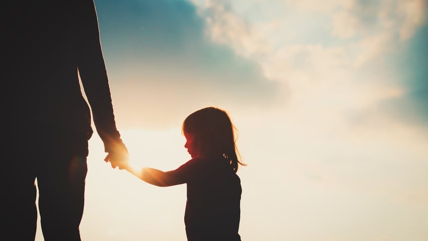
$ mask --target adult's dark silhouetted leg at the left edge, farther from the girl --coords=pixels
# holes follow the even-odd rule
[[[34,241],[37,228],[35,166],[37,156],[31,150],[31,135],[24,129],[2,131],[6,141],[2,155],[2,225],[1,233],[11,240]]]

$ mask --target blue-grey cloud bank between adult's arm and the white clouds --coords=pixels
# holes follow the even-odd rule
[[[192,3],[95,4],[115,113],[124,125],[161,128],[207,105],[266,108],[283,98],[259,63],[207,36],[209,23]],[[236,25],[230,38],[242,35],[245,44],[245,24]]]

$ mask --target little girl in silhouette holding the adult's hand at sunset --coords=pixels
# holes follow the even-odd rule
[[[192,159],[176,170],[145,167],[141,173],[128,171],[156,186],[187,183],[184,215],[188,241],[240,241],[241,181],[234,125],[229,115],[207,107],[190,114],[183,122],[184,147]]]

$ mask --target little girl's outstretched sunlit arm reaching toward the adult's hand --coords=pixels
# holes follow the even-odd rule
[[[125,168],[131,174],[140,178],[141,180],[155,185],[155,186],[174,186],[183,184],[184,182],[175,178],[174,171],[164,172],[158,169],[144,167],[141,172],[136,172],[132,168]]]

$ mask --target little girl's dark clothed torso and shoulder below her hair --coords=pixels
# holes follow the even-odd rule
[[[184,223],[188,241],[241,240],[241,180],[227,160],[194,158],[168,173],[177,182],[187,183]]]

